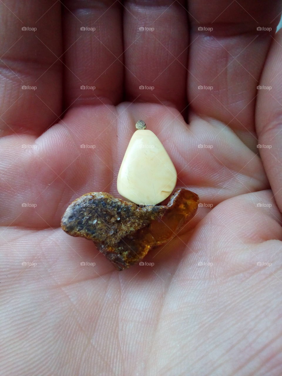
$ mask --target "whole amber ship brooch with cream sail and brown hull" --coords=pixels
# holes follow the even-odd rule
[[[186,188],[173,192],[177,173],[158,137],[136,123],[117,177],[118,193],[86,193],[74,200],[61,227],[71,236],[92,240],[117,270],[141,261],[154,247],[167,243],[197,211],[199,197]]]

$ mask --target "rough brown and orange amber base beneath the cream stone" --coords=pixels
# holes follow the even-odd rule
[[[153,247],[168,242],[197,211],[197,194],[178,189],[168,205],[139,207],[108,193],[87,193],[62,217],[69,235],[94,241],[118,270],[139,262]]]

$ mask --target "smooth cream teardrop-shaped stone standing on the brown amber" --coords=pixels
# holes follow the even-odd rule
[[[155,133],[136,130],[118,172],[118,193],[137,205],[156,205],[170,196],[176,179],[175,167]]]

